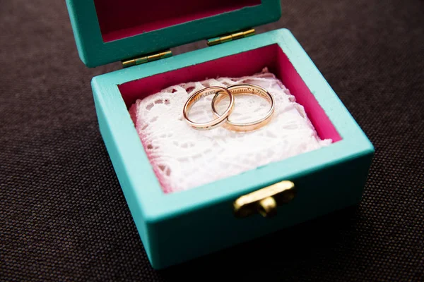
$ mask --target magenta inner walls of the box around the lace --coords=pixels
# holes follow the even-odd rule
[[[245,51],[239,54],[226,56],[213,61],[199,63],[185,68],[179,68],[167,73],[159,73],[147,78],[133,80],[118,85],[119,91],[126,106],[129,108],[136,99],[143,99],[151,94],[160,92],[166,87],[181,82],[200,81],[216,77],[242,77],[259,73],[268,67],[296,97],[299,104],[304,106],[306,114],[314,125],[321,139],[341,140],[333,123],[326,116],[324,109],[319,105],[314,94],[295,70],[288,57],[278,44]]]

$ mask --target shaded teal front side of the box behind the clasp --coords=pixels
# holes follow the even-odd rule
[[[156,223],[149,230],[151,251],[157,254],[153,267],[162,269],[186,262],[358,204],[372,154],[369,150],[355,159],[285,179],[295,183],[297,196],[278,207],[278,214],[271,219],[259,214],[235,218],[232,199]]]

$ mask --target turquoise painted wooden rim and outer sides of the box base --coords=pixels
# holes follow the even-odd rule
[[[117,85],[277,43],[343,140],[201,187],[164,194]],[[155,269],[185,262],[360,201],[374,147],[291,32],[274,30],[187,54],[125,68],[92,80],[100,132]],[[232,201],[293,180],[298,195],[274,219],[235,219]],[[252,227],[254,226],[254,227]]]

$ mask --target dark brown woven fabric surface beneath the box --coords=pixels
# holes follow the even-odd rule
[[[81,63],[64,1],[2,0],[1,280],[423,278],[423,1],[283,1],[281,20],[258,32],[278,27],[293,32],[375,145],[363,201],[154,271],[102,143],[90,89],[94,75],[119,63]]]

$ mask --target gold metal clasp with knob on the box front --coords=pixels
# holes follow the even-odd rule
[[[275,216],[277,206],[287,204],[293,200],[295,194],[295,183],[288,180],[275,183],[235,200],[235,216],[242,218],[256,213],[264,217]]]

